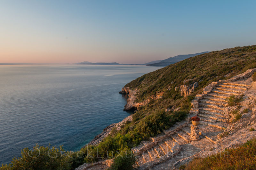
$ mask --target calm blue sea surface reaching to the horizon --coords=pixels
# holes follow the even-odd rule
[[[0,165],[23,148],[64,145],[76,151],[123,111],[122,87],[160,67],[104,65],[1,65]]]

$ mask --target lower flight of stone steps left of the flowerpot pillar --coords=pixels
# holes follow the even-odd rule
[[[190,142],[188,133],[182,131],[190,124],[189,118],[186,121],[176,123],[173,127],[164,131],[164,134],[151,138],[150,141],[142,141],[141,145],[132,148],[136,154],[139,169],[152,168],[155,165],[166,161],[180,152],[181,146]]]

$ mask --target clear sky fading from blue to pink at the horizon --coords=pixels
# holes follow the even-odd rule
[[[0,0],[0,63],[145,63],[255,44],[255,0]]]

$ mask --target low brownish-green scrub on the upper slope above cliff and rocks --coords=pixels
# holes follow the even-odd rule
[[[176,100],[175,87],[183,85],[184,80],[197,81],[199,84],[197,90],[200,91],[212,81],[225,80],[247,69],[255,68],[255,52],[254,45],[201,54],[145,74],[126,84],[125,87],[139,89],[137,96],[139,102],[162,91],[165,92],[163,100],[169,98]],[[227,74],[229,76],[225,77]],[[172,81],[171,90],[167,90]],[[175,103],[173,100],[172,105]]]

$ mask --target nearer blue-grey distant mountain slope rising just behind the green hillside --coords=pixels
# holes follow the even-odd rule
[[[194,57],[196,55],[200,55],[200,54],[204,54],[204,53],[209,53],[209,51],[205,51],[205,52],[202,52],[202,53],[195,53],[195,54],[177,55],[177,56],[174,56],[174,57],[169,57],[168,59],[159,61],[157,63],[147,64],[147,66],[165,67],[165,66],[169,66],[170,64],[174,64],[176,62],[179,62],[181,60],[185,60],[189,57]]]

